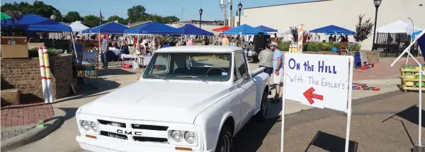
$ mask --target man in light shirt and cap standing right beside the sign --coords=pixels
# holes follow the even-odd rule
[[[270,50],[273,52],[273,83],[275,84],[276,88],[276,95],[274,98],[271,99],[271,101],[278,102],[280,97],[280,80],[283,76],[283,54],[282,52],[277,48],[278,43],[271,42]]]

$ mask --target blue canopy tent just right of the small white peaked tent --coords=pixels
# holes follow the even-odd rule
[[[98,25],[94,28],[88,28],[86,30],[82,30],[83,33],[108,33],[108,34],[123,34],[125,30],[128,30],[125,25],[115,22],[105,23],[103,25]]]

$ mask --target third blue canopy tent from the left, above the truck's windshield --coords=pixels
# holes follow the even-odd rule
[[[178,28],[173,28],[169,25],[157,22],[149,22],[135,28],[125,30],[129,34],[182,34]]]

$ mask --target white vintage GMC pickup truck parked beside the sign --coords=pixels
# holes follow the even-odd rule
[[[266,119],[269,76],[226,46],[155,51],[139,81],[79,107],[88,151],[232,151],[251,117]]]

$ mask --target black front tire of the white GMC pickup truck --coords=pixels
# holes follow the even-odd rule
[[[232,152],[233,150],[233,133],[227,125],[222,127],[220,136],[218,137],[215,152]]]

